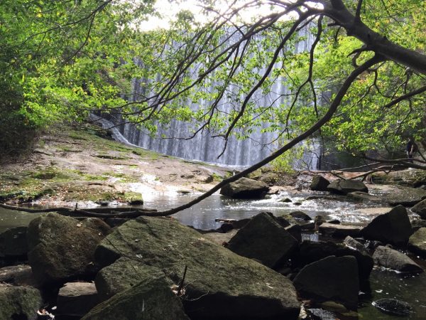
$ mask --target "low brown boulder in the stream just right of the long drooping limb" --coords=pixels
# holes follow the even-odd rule
[[[220,194],[238,199],[263,198],[269,186],[249,178],[239,178],[237,181],[226,184],[220,189]]]

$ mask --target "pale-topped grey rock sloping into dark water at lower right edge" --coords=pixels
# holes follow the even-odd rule
[[[373,260],[376,265],[399,272],[423,272],[422,267],[417,265],[417,263],[407,257],[407,255],[393,250],[390,247],[378,246],[376,251],[374,251]]]

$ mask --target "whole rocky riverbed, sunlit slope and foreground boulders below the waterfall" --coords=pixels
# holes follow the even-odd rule
[[[96,133],[40,137],[33,154],[1,167],[2,201],[173,206],[149,195],[186,201],[231,174]],[[0,319],[424,319],[422,173],[372,177],[399,186],[335,174],[295,181],[268,171],[231,183],[211,208],[177,215],[199,228],[191,217],[217,199],[239,206],[232,217],[201,213],[204,230],[175,218],[28,216],[0,235]],[[258,199],[234,199],[248,195]]]

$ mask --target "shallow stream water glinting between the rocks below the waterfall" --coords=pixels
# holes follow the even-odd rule
[[[376,192],[380,196],[380,191]],[[144,194],[144,207],[164,210],[173,208],[198,196],[197,194],[182,195],[180,193],[148,193]],[[280,202],[289,198],[291,202]],[[381,210],[386,210],[383,203],[363,203],[362,201],[347,201],[344,196],[329,196],[326,193],[300,191],[281,191],[279,195],[271,198],[249,201],[236,200],[214,194],[201,203],[177,213],[174,218],[185,225],[192,225],[197,229],[209,230],[219,228],[222,223],[215,219],[241,219],[249,218],[261,211],[269,211],[274,215],[290,213],[301,210],[311,218],[315,215],[323,215],[326,220],[339,219],[343,224],[366,225]],[[371,210],[373,209],[373,210]],[[415,214],[408,210],[410,218]],[[20,211],[0,208],[0,233],[6,229],[28,223],[38,216],[37,213],[24,213]],[[426,269],[425,260],[419,260],[411,256],[423,268]],[[417,276],[404,276],[396,272],[374,269],[370,276],[370,289],[360,295],[361,306],[359,319],[401,319],[399,316],[384,314],[371,305],[373,300],[381,298],[395,298],[408,302],[413,307],[410,316],[404,319],[426,319],[426,274]],[[342,318],[344,319],[344,318]],[[353,318],[352,318],[353,319]]]

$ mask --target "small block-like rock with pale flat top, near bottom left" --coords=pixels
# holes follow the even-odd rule
[[[96,287],[92,282],[68,282],[59,289],[55,314],[59,317],[81,318],[99,304]]]

